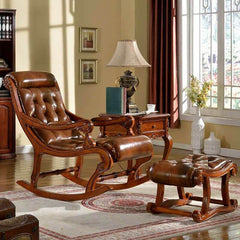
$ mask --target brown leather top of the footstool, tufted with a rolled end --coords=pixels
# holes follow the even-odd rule
[[[201,184],[202,174],[214,174],[224,169],[231,160],[216,156],[188,155],[186,158],[164,160],[153,164],[148,175],[153,182],[180,187]]]

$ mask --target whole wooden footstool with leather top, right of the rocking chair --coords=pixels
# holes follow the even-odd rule
[[[231,212],[237,208],[237,200],[229,197],[229,178],[237,173],[237,165],[229,159],[206,155],[189,155],[181,161],[163,160],[148,170],[149,178],[158,184],[155,203],[148,203],[147,211],[171,213],[192,217],[196,222],[209,219],[219,212]],[[222,200],[211,198],[210,178],[221,177]],[[185,193],[184,187],[203,186],[203,197]],[[164,185],[177,186],[179,199],[163,201]],[[191,200],[201,201],[201,210],[188,212],[171,208],[189,204]],[[221,206],[210,208],[210,203]]]

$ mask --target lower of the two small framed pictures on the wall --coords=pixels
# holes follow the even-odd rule
[[[80,60],[80,84],[97,83],[97,60]]]

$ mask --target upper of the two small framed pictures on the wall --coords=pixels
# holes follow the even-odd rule
[[[82,52],[97,51],[97,28],[80,28],[80,38]]]

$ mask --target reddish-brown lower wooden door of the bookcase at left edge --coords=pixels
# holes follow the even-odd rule
[[[15,156],[15,116],[11,98],[4,98],[0,99],[0,159]]]

